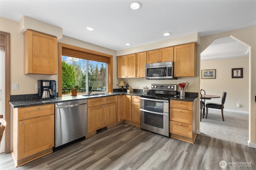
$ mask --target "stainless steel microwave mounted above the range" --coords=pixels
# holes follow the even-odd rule
[[[150,63],[145,66],[146,79],[177,79],[173,77],[173,62]]]

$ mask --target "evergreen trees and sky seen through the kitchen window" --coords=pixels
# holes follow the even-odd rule
[[[87,62],[88,69],[86,68]],[[90,80],[92,92],[106,92],[107,66],[107,63],[62,55],[62,95],[69,95],[65,91],[73,86],[80,87],[78,94],[88,94],[86,80]]]

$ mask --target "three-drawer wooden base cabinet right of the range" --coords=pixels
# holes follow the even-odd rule
[[[194,143],[196,139],[196,101],[170,100],[170,137]]]

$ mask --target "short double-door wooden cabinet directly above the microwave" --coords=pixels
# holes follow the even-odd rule
[[[147,63],[173,61],[173,47],[147,52]]]

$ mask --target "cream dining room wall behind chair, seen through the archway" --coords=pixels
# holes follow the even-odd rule
[[[232,68],[243,68],[243,78],[232,78]],[[249,111],[249,57],[203,60],[201,70],[216,69],[216,79],[201,79],[206,94],[222,96],[227,92],[224,110],[248,113]],[[221,103],[221,98],[206,100]],[[241,103],[237,107],[237,102]]]

